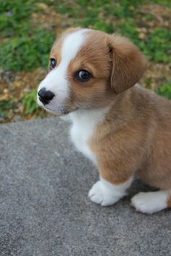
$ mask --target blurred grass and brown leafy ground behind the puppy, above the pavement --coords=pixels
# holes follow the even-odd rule
[[[130,38],[149,59],[141,84],[171,99],[170,0],[0,0],[0,123],[47,115],[36,88],[54,39],[72,26]]]

